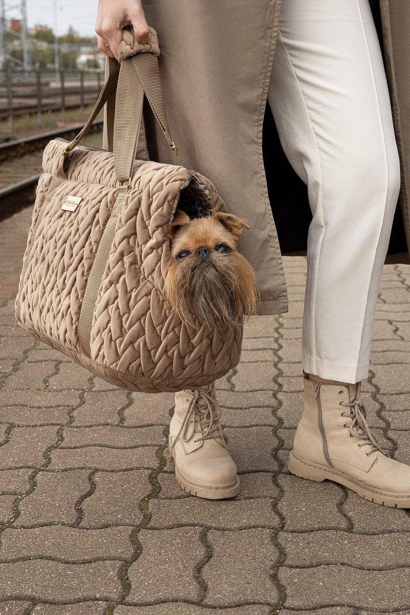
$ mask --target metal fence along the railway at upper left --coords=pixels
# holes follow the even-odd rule
[[[97,100],[104,82],[103,71],[0,70],[0,119],[10,131],[17,116],[36,114],[41,126],[45,111],[84,109]]]

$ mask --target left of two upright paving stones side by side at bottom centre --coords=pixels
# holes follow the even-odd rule
[[[131,589],[125,603],[197,601],[202,590],[194,569],[207,554],[200,532],[201,528],[194,527],[141,530],[138,539],[142,551],[128,569]],[[152,574],[147,574],[147,570]]]

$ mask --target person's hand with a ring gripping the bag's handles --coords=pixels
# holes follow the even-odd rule
[[[141,44],[149,41],[149,28],[141,0],[99,0],[95,31],[98,49],[110,58],[117,58],[122,40],[122,28],[131,24]]]

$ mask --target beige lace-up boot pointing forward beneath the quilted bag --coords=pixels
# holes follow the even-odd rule
[[[175,394],[168,450],[178,484],[194,496],[233,498],[239,493],[237,467],[223,437],[215,384]]]

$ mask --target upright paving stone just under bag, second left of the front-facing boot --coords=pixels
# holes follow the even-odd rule
[[[77,408],[73,426],[117,425],[121,408],[128,404],[125,391],[108,391],[105,393],[89,392],[84,396],[84,403]]]

